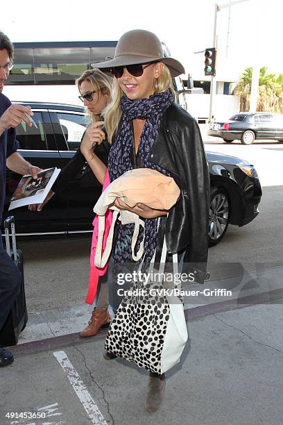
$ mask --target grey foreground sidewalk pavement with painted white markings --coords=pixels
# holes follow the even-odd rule
[[[182,362],[167,374],[164,404],[153,414],[144,412],[148,373],[103,360],[105,332],[15,347],[15,363],[0,371],[0,424],[281,425],[279,301],[189,320]],[[7,412],[46,417],[7,419]]]

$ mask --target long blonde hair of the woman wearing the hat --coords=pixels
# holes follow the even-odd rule
[[[160,77],[155,79],[155,93],[162,93],[169,89],[171,90],[176,101],[177,94],[173,89],[170,71],[164,63],[162,63],[162,65],[163,66],[161,69]],[[113,135],[118,129],[119,122],[122,116],[120,103],[121,97],[123,97],[124,95],[125,94],[120,88],[117,78],[114,77],[112,81],[112,101],[104,109],[105,128],[106,133],[108,135],[108,142],[110,143],[112,143]]]

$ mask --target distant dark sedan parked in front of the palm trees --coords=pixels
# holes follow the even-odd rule
[[[252,144],[255,140],[283,141],[283,115],[239,113],[228,121],[212,123],[208,135],[228,143],[233,140],[241,140],[243,144]]]

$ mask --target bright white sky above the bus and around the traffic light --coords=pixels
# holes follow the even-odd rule
[[[218,5],[230,0],[218,1]],[[212,47],[214,0],[39,0],[3,2],[0,30],[12,42],[118,40],[135,28],[153,31],[194,79],[204,77]],[[247,0],[217,13],[217,79],[236,81],[248,66],[283,72],[282,0]],[[228,38],[228,22],[230,31]],[[227,48],[228,44],[228,48]],[[279,53],[280,51],[280,53]]]

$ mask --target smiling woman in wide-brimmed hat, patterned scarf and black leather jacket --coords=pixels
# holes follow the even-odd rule
[[[181,189],[180,198],[169,212],[153,210],[141,203],[130,208],[121,199],[116,199],[114,205],[145,219],[145,265],[151,262],[155,250],[160,249],[163,232],[169,257],[178,253],[188,271],[192,268],[195,280],[203,283],[207,264],[209,173],[198,124],[175,103],[172,77],[184,74],[185,69],[178,60],[165,58],[160,40],[155,34],[143,30],[123,34],[114,58],[95,66],[113,76],[112,102],[104,115],[108,141],[112,145],[108,158],[110,181],[130,169],[144,167],[172,176]],[[162,223],[159,228],[158,219]],[[132,224],[117,226],[108,269],[110,304],[114,310],[121,301],[117,294],[114,295],[117,292],[117,276],[132,258],[132,232]],[[139,235],[139,243],[141,238],[142,234]],[[149,331],[144,335],[142,329],[141,335],[119,335],[120,324],[125,317],[123,313],[115,317],[116,324],[108,333],[110,339],[105,346],[107,360],[120,355],[117,347],[120,337],[128,338],[126,343],[133,344],[134,349],[143,343],[141,341],[153,340]],[[150,317],[147,319],[151,320]],[[146,330],[146,324],[142,328]],[[154,338],[161,341],[162,337],[155,335]],[[112,341],[112,347],[109,341]],[[156,364],[161,355],[160,343],[153,343],[151,353],[145,356],[154,356]],[[146,358],[135,363],[146,367]],[[164,398],[165,376],[156,372],[156,367],[146,369],[150,371],[150,378],[145,408],[153,412]]]

